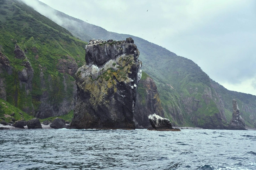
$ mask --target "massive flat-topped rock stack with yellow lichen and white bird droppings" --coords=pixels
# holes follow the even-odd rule
[[[133,39],[91,40],[85,50],[87,64],[75,74],[77,104],[70,127],[135,129],[133,111],[141,62]]]

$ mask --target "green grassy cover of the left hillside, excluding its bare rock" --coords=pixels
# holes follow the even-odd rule
[[[24,68],[21,66],[22,61],[14,58],[16,43],[25,51],[34,70],[33,90],[28,95],[23,87],[15,83],[18,71]],[[71,56],[78,63],[78,67],[81,67],[85,63],[86,44],[22,2],[0,0],[0,50],[8,57],[10,65],[14,68],[11,75],[0,75],[5,78],[7,85],[7,101],[20,109],[33,106],[37,110],[40,95],[44,91],[50,94],[49,100],[55,104],[62,102],[64,97],[70,97],[73,90],[70,82],[75,80],[67,75],[66,83],[70,86],[65,91],[62,83],[63,73],[58,72],[56,64],[59,59]],[[45,80],[49,76],[52,79],[52,84],[48,82],[45,89],[41,87],[39,78],[41,70]],[[14,98],[15,90],[18,91],[18,101]]]

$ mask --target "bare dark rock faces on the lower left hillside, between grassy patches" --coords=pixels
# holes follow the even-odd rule
[[[19,45],[15,45],[14,48],[14,57],[20,63],[17,68],[10,66],[9,59],[0,52],[0,98],[7,100],[7,97],[13,98],[13,104],[16,107],[19,107],[21,110],[26,113],[38,117],[38,118],[47,118],[52,116],[60,116],[68,114],[69,111],[73,110],[76,102],[76,84],[75,81],[69,81],[69,76],[74,75],[74,69],[77,69],[77,63],[73,61],[71,57],[68,57],[67,60],[59,60],[59,64],[62,65],[63,81],[59,82],[64,89],[71,89],[71,95],[64,96],[63,98],[58,99],[60,102],[56,102],[54,99],[54,93],[59,93],[60,89],[56,88],[56,80],[53,80],[52,76],[45,76],[44,69],[40,69],[40,74],[36,77],[40,81],[41,89],[50,89],[43,90],[43,93],[32,97],[32,94],[35,93],[34,86],[34,69],[26,56],[25,52],[20,48]],[[72,67],[72,69],[71,69]],[[38,70],[37,70],[38,72]],[[61,72],[61,70],[59,70]],[[6,77],[11,81],[7,84]],[[8,85],[8,86],[7,86]],[[8,87],[12,86],[11,90]],[[9,92],[9,94],[7,94]],[[10,93],[11,92],[11,93]],[[8,96],[9,95],[9,96]],[[53,98],[53,99],[52,99]],[[32,100],[32,101],[31,101]],[[40,103],[35,109],[34,104]]]

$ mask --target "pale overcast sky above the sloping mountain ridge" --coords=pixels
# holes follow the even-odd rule
[[[193,60],[225,88],[256,95],[256,0],[40,1],[165,47]]]

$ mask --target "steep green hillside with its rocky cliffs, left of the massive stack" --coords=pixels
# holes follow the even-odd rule
[[[23,2],[0,0],[0,52],[9,61],[0,60],[6,92],[0,98],[39,118],[67,114],[76,102],[73,76],[85,63],[86,44]]]

